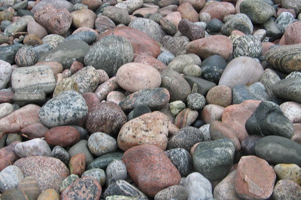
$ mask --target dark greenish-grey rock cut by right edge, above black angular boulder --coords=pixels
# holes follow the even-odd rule
[[[279,80],[274,83],[272,92],[280,98],[301,103],[299,82],[301,82],[301,78],[298,77]]]

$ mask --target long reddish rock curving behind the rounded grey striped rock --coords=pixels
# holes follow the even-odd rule
[[[158,57],[161,51],[160,45],[155,39],[135,28],[118,26],[102,33],[100,38],[107,35],[118,35],[128,39],[133,46],[135,54],[152,55],[154,57]]]

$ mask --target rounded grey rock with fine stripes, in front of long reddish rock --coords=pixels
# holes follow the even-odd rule
[[[99,60],[99,57],[102,59]],[[113,35],[98,40],[87,52],[84,59],[85,65],[103,69],[109,76],[116,73],[121,65],[132,60],[133,48],[130,42],[124,37]]]

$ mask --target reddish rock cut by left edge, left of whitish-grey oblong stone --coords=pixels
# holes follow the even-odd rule
[[[0,171],[19,159],[19,156],[15,153],[15,146],[19,142],[20,141],[15,141],[0,149]]]

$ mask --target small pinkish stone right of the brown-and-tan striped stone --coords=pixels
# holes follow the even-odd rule
[[[224,109],[224,107],[215,104],[205,105],[205,107],[201,111],[200,118],[205,123],[211,123],[214,120],[220,120],[222,118]]]

